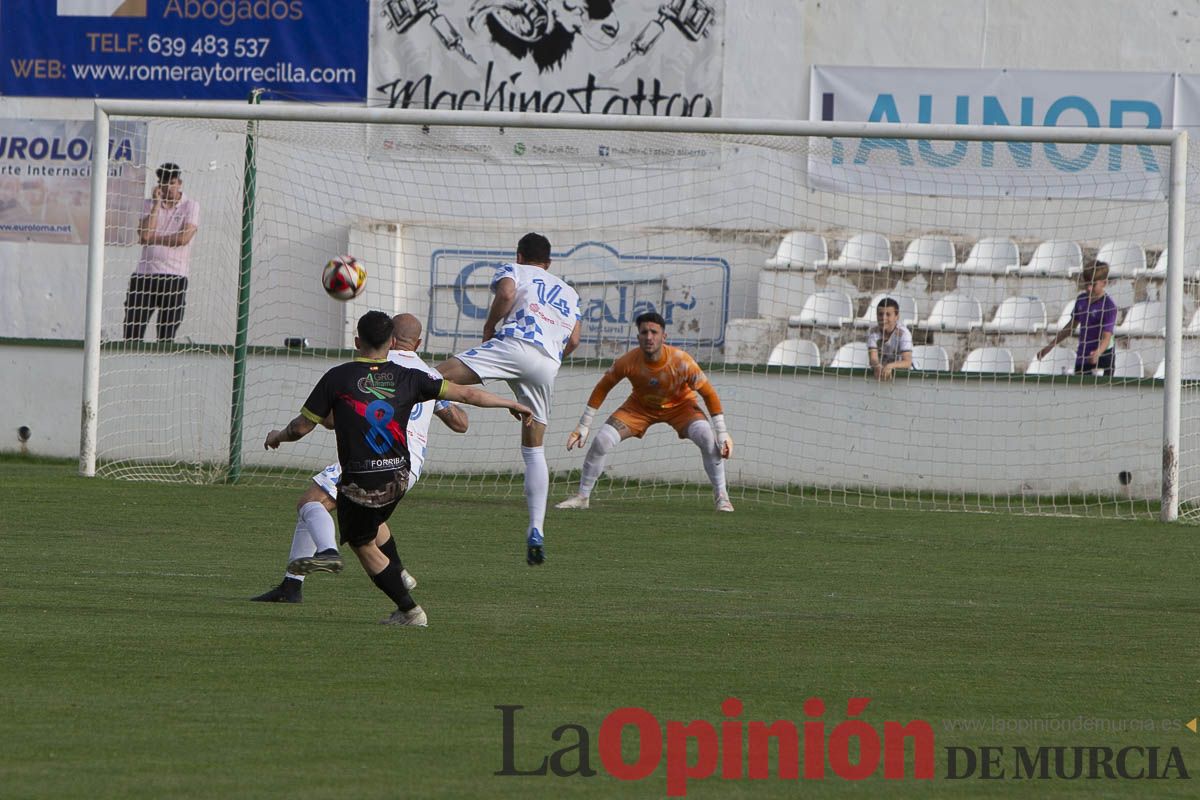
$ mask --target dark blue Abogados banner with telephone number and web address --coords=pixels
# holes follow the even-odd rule
[[[366,95],[367,0],[2,0],[0,94]]]

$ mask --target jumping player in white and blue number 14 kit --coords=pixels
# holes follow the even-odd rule
[[[550,272],[550,240],[526,234],[515,264],[492,276],[492,306],[484,323],[484,343],[439,363],[456,384],[505,380],[517,401],[533,409],[533,425],[521,427],[524,495],[529,510],[526,563],[545,560],[546,497],[550,470],[542,439],[550,422],[550,397],[563,357],[580,345],[580,295]]]

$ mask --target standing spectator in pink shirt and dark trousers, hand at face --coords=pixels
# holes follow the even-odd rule
[[[199,204],[184,196],[179,164],[164,163],[156,170],[158,184],[145,201],[138,223],[142,258],[130,276],[125,295],[125,339],[140,339],[155,309],[158,341],[174,342],[187,302],[187,267],[192,239],[200,223]]]

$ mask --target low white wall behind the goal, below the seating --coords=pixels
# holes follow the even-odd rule
[[[11,395],[10,433],[0,438],[0,449],[14,450],[16,428],[24,425],[32,431],[31,452],[78,453],[80,362],[80,350],[71,348],[0,350],[0,385],[38,387]],[[275,452],[262,449],[266,432],[298,413],[317,378],[332,363],[295,356],[251,359],[247,464],[317,470],[336,459],[334,437],[324,431]],[[568,453],[564,445],[596,374],[595,366],[568,366],[559,374],[546,441],[552,470],[578,469],[582,463],[580,453]],[[102,458],[224,463],[229,375],[228,356],[178,353],[106,359]],[[1162,387],[1152,381],[1036,383],[1021,375],[913,373],[880,384],[860,373],[748,371],[712,378],[737,441],[736,458],[728,462],[734,486],[1144,498],[1159,492]],[[40,391],[48,386],[53,391]],[[490,387],[508,392],[503,385]],[[1200,398],[1188,395],[1184,441],[1200,433],[1195,414]],[[618,387],[599,419],[606,419],[624,397]],[[427,471],[520,473],[517,429],[510,417],[499,411],[468,411],[468,435],[433,433]],[[1200,476],[1193,461],[1184,455],[1187,491],[1194,491]],[[1129,486],[1120,482],[1121,473],[1132,476]],[[665,426],[655,426],[641,443],[618,447],[608,475],[703,480],[695,449]]]

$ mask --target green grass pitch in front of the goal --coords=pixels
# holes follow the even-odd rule
[[[0,486],[0,798],[665,796],[662,765],[605,771],[602,720],[719,723],[731,696],[743,721],[798,726],[821,697],[827,733],[870,697],[876,730],[932,726],[936,777],[785,781],[773,759],[690,798],[1200,792],[1193,527],[596,495],[551,510],[529,569],[520,497],[424,487],[392,528],[430,627],[396,630],[353,557],[300,606],[247,602],[281,577],[296,489],[13,457]],[[574,723],[598,775],[494,775],[496,705],[524,706],[520,769]],[[1007,748],[1004,780],[946,777],[948,747],[980,746]],[[1013,780],[1016,746],[1178,747],[1192,777]]]

